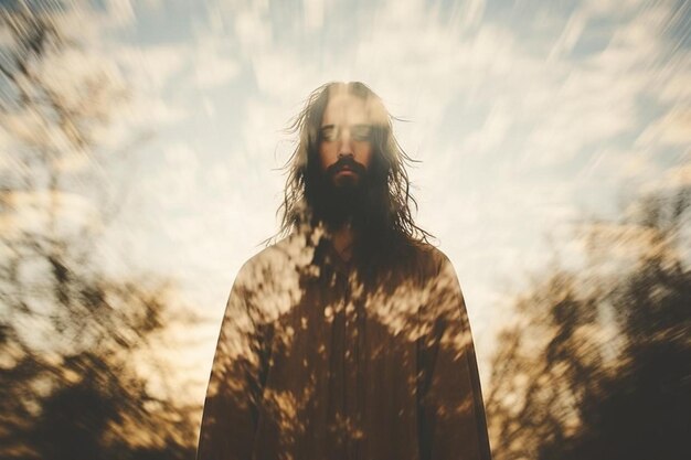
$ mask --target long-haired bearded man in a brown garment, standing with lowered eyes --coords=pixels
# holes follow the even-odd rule
[[[489,459],[463,295],[382,101],[327,84],[293,129],[286,237],[233,286],[198,459]]]

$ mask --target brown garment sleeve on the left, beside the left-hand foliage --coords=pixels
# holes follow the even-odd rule
[[[248,460],[262,396],[266,352],[241,277],[231,291],[213,360],[196,460]]]

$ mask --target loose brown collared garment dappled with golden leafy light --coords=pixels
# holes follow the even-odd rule
[[[451,264],[432,246],[361,280],[293,236],[233,286],[198,460],[489,460]],[[402,265],[403,267],[403,265]]]

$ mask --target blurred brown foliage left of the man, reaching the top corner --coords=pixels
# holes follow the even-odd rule
[[[63,13],[0,7],[0,458],[191,458],[200,408],[174,399],[153,352],[193,319],[171,308],[169,281],[102,268],[118,196],[95,175],[94,133],[125,92],[87,60],[74,66]]]

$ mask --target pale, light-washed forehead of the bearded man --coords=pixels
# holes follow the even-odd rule
[[[338,92],[329,95],[321,125],[380,125],[385,119],[379,100]]]

